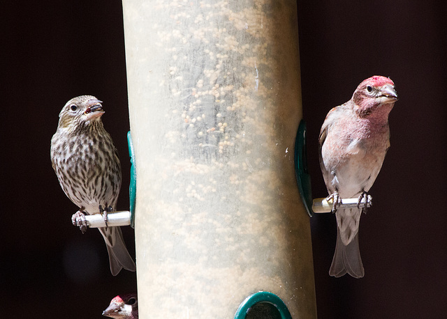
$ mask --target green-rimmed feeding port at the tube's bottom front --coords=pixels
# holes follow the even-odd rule
[[[273,293],[259,291],[247,297],[235,314],[235,319],[291,319],[286,304]]]

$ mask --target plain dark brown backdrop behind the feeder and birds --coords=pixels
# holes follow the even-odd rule
[[[400,97],[390,114],[392,146],[371,189],[374,207],[362,216],[363,279],[328,276],[335,217],[311,220],[319,318],[447,313],[447,10],[444,1],[408,2],[298,0],[314,197],[326,195],[317,139],[328,110],[372,75],[391,77]],[[118,208],[129,207],[121,1],[2,7],[0,316],[101,318],[112,297],[135,290],[135,274],[112,277],[98,231],[81,235],[71,225],[75,206],[52,171],[50,139],[69,98],[103,100],[122,157]],[[133,230],[124,233],[133,254]]]

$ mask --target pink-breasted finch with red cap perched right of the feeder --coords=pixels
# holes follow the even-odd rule
[[[390,147],[388,114],[397,100],[394,83],[374,76],[362,81],[348,102],[331,109],[320,132],[320,166],[337,218],[337,245],[329,274],[365,275],[358,248],[360,214],[365,208],[337,209],[342,199],[367,194]]]

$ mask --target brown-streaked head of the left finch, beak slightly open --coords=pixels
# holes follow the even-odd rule
[[[75,129],[80,125],[88,125],[101,121],[104,114],[102,101],[92,95],[81,95],[72,98],[62,108],[59,114],[59,127]]]

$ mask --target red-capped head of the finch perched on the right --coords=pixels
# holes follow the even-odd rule
[[[374,75],[359,84],[352,100],[360,117],[376,114],[388,118],[394,102],[397,101],[397,92],[390,78]]]

